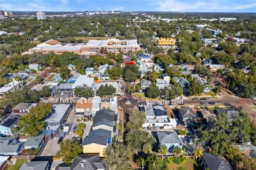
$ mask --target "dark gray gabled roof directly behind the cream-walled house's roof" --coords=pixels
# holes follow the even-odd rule
[[[92,127],[100,126],[100,125],[106,125],[113,127],[115,121],[115,111],[113,110],[99,110],[96,112]]]

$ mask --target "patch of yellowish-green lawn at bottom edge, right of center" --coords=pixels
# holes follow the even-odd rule
[[[195,163],[194,159],[187,158],[186,162],[177,165],[171,161],[168,167],[169,170],[201,170],[202,168]]]

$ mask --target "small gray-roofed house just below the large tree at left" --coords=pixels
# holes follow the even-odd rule
[[[27,139],[27,141],[23,144],[24,149],[36,149],[41,148],[44,142],[44,135],[39,136],[31,136]]]

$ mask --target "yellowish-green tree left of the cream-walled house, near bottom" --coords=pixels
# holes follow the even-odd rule
[[[67,164],[83,151],[81,145],[78,141],[73,141],[71,139],[64,140],[60,143],[60,150],[54,156],[55,158],[63,157],[63,161]]]

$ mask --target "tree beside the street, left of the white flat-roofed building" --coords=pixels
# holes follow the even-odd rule
[[[140,129],[142,124],[145,123],[145,112],[142,111],[130,111],[129,112],[129,121],[126,123],[126,128],[130,130],[132,129]]]

